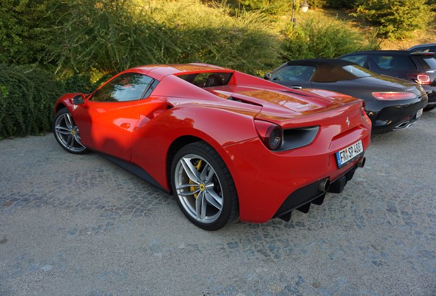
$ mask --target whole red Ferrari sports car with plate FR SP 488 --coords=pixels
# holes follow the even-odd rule
[[[370,145],[362,101],[208,64],[138,66],[56,102],[53,133],[173,193],[198,227],[289,221],[341,193]]]

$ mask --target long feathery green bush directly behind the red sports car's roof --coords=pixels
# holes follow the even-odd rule
[[[265,16],[210,8],[199,0],[75,0],[47,61],[58,72],[114,73],[140,64],[206,62],[258,73],[278,61]],[[189,17],[186,17],[189,16]],[[256,58],[253,58],[253,57]]]

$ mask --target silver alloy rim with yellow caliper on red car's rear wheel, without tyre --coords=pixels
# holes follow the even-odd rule
[[[213,167],[197,154],[186,154],[174,171],[175,189],[186,212],[196,221],[217,221],[223,210],[223,191]]]

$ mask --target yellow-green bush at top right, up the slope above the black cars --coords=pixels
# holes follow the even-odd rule
[[[415,29],[426,27],[430,7],[427,0],[358,0],[354,15],[378,26],[378,32],[387,38],[402,39]]]

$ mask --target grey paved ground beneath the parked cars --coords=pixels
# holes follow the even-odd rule
[[[340,195],[206,232],[51,134],[0,142],[0,295],[436,295],[436,111],[372,137]]]

